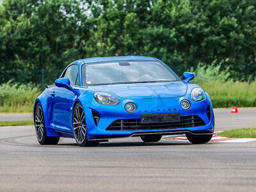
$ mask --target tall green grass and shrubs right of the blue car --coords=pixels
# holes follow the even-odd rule
[[[214,108],[256,107],[256,79],[250,83],[234,81],[229,68],[220,65],[198,65],[191,68],[196,83],[209,93]]]

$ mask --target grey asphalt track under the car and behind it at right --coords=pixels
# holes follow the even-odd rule
[[[218,110],[216,131],[256,124],[256,109]],[[170,136],[40,146],[33,126],[0,127],[0,191],[256,191],[255,180],[256,143],[191,145]]]

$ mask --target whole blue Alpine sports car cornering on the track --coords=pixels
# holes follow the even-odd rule
[[[35,100],[36,138],[42,145],[74,138],[79,146],[110,138],[140,136],[157,142],[163,135],[186,134],[207,143],[214,131],[211,99],[156,58],[124,56],[77,60],[55,85]]]

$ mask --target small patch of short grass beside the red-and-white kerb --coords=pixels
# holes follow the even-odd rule
[[[256,127],[226,130],[218,135],[226,138],[256,138]]]

